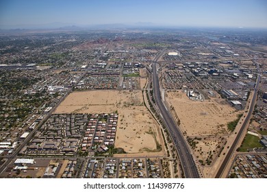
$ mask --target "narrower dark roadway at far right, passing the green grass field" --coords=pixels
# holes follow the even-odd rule
[[[257,65],[257,67],[258,67],[258,65]],[[238,141],[240,139],[240,136],[242,135],[244,130],[246,130],[246,125],[249,123],[249,120],[251,119],[251,115],[253,113],[254,106],[255,106],[256,101],[257,101],[257,91],[259,89],[260,80],[261,80],[261,76],[258,75],[257,82],[256,82],[255,88],[254,88],[254,95],[253,95],[253,98],[252,98],[252,101],[251,101],[251,105],[249,106],[249,112],[246,115],[246,119],[243,121],[243,124],[242,124],[242,126],[240,128],[240,131],[236,135],[235,141],[233,141],[233,145],[231,146],[231,148],[229,149],[227,155],[225,156],[225,160],[223,160],[222,165],[220,165],[220,168],[218,169],[218,172],[217,172],[215,178],[220,178],[222,176],[223,171],[225,170],[225,167],[227,166],[227,164],[228,164],[228,162],[229,162],[229,160],[230,160],[230,158],[231,158],[231,156],[233,154],[233,151],[236,149],[236,145],[238,145]]]

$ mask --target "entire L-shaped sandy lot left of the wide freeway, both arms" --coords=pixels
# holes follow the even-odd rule
[[[143,105],[142,91],[71,93],[55,113],[111,113],[116,110],[119,116],[115,147],[121,147],[127,153],[159,151],[157,142],[164,145],[162,135],[155,120]]]

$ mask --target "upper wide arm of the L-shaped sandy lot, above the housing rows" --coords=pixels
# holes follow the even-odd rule
[[[141,91],[82,91],[68,95],[55,113],[109,113],[142,104]]]

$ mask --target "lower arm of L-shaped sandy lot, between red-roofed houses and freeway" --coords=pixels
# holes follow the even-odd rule
[[[153,134],[160,142],[158,126],[147,109],[137,106],[135,109],[121,109],[120,114],[115,147],[121,147],[129,153],[155,151]]]

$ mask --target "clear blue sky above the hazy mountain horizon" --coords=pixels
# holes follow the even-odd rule
[[[0,0],[4,25],[151,22],[200,27],[265,27],[266,0]]]

